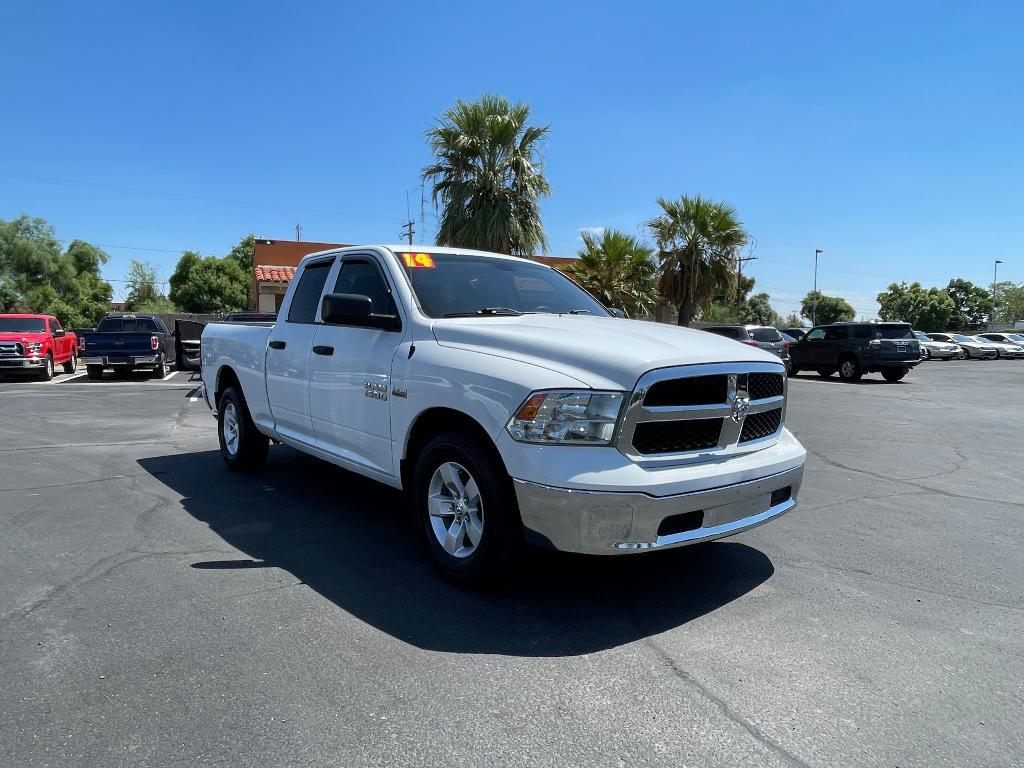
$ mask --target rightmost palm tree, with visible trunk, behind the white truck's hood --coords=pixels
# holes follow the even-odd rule
[[[658,290],[679,308],[679,325],[688,326],[697,308],[718,293],[734,290],[735,264],[746,231],[736,209],[699,195],[679,200],[658,198],[662,215],[647,222],[657,243],[662,276]]]

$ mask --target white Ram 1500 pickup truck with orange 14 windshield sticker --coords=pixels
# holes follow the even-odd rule
[[[211,324],[203,394],[231,469],[269,441],[408,492],[433,562],[730,536],[797,504],[779,358],[621,319],[525,259],[366,246],[305,257],[274,324]]]

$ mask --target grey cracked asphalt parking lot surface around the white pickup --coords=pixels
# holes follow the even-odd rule
[[[801,506],[459,591],[165,381],[0,383],[4,766],[1024,764],[1024,361],[802,375]]]

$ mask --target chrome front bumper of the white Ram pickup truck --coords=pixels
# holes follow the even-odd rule
[[[621,555],[708,542],[761,525],[797,506],[803,477],[800,466],[757,480],[663,498],[518,479],[514,484],[531,544]]]

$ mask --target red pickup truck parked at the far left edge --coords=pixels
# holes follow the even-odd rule
[[[51,314],[0,314],[0,375],[35,374],[53,378],[78,370],[78,339]]]

